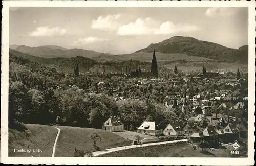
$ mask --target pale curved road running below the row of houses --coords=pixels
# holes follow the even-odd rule
[[[110,148],[110,149],[105,149],[102,151],[96,151],[93,152],[93,156],[98,156],[110,152],[115,152],[115,151],[120,151],[124,149],[131,149],[131,148],[139,148],[139,147],[147,147],[147,146],[153,146],[153,145],[161,145],[161,144],[172,144],[172,143],[179,143],[179,142],[186,142],[188,139],[180,139],[180,140],[171,140],[171,141],[164,141],[164,142],[158,142],[158,143],[148,143],[148,144],[142,144],[142,145],[129,145],[129,146],[123,146],[123,147],[116,147],[116,148]]]

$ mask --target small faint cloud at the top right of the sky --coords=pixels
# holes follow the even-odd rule
[[[208,8],[205,15],[208,17],[230,16],[236,13],[236,8],[212,7]]]

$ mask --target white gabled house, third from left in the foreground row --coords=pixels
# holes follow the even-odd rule
[[[169,123],[166,128],[163,130],[164,135],[183,135],[184,131],[183,128],[181,128],[181,124],[175,122],[175,123]]]

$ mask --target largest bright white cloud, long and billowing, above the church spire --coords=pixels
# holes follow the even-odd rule
[[[177,24],[173,22],[159,22],[151,18],[141,19],[138,18],[135,22],[130,22],[118,28],[117,33],[121,36],[126,35],[160,35],[160,34],[173,34],[177,32],[191,32],[198,31],[199,27],[189,24]]]

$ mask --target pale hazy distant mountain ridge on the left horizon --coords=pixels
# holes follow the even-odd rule
[[[15,48],[15,46],[10,46],[10,48],[21,53],[30,54],[38,57],[45,57],[45,58],[75,57],[75,56],[93,58],[100,55],[111,55],[111,54],[105,54],[105,53],[98,53],[92,50],[66,49],[56,45],[44,45],[44,46],[37,46],[37,47],[20,45],[17,48]]]

